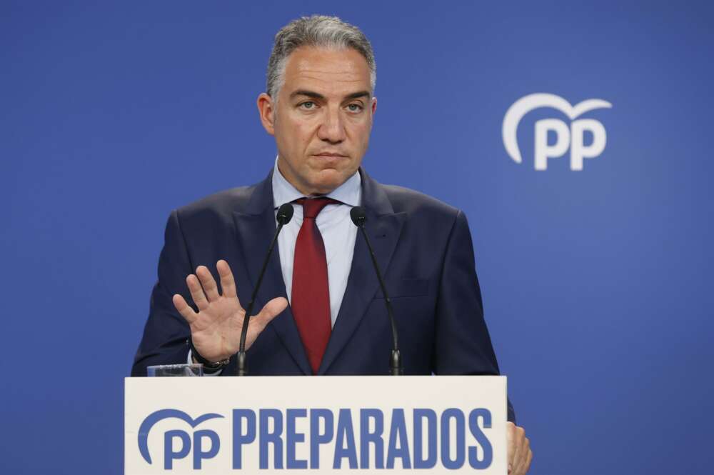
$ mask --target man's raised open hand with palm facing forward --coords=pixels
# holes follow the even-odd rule
[[[198,307],[198,313],[186,304],[183,296],[174,295],[174,306],[188,325],[196,351],[209,361],[222,361],[238,352],[241,342],[241,326],[246,311],[238,301],[236,281],[226,261],[216,263],[221,277],[223,295],[218,294],[218,285],[206,266],[196,267],[196,274],[186,277],[191,298]],[[268,323],[288,306],[288,301],[277,297],[269,301],[263,309],[248,322],[246,350],[256,341]]]

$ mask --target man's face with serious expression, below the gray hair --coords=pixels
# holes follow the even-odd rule
[[[367,61],[353,49],[303,46],[288,56],[277,104],[258,97],[261,121],[278,146],[278,168],[301,193],[343,184],[367,151],[377,101]]]

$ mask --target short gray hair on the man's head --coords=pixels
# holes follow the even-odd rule
[[[377,64],[367,37],[356,26],[336,16],[313,15],[291,21],[275,35],[273,52],[268,61],[268,96],[277,100],[278,91],[285,82],[288,56],[300,46],[356,50],[367,61],[370,85],[374,92],[377,84]]]

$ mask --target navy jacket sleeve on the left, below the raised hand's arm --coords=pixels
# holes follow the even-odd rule
[[[149,319],[144,336],[134,357],[131,376],[146,376],[146,367],[155,364],[181,364],[188,358],[186,339],[190,335],[188,323],[176,311],[174,294],[181,294],[191,304],[186,276],[193,271],[186,242],[181,232],[178,211],[169,216],[164,234],[164,249],[159,257],[159,281],[151,292]]]

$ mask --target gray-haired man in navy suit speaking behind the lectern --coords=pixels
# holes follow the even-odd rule
[[[498,374],[466,218],[416,191],[378,184],[360,167],[375,81],[371,45],[356,27],[313,16],[278,32],[267,92],[258,96],[263,127],[276,139],[275,166],[260,184],[171,214],[134,376],[185,361],[235,374],[241,302],[284,203],[295,214],[258,292],[262,309],[249,319],[251,374],[386,374],[388,316],[349,217],[360,205],[391,294],[405,373]],[[511,473],[525,473],[529,442],[511,422],[508,442]]]

